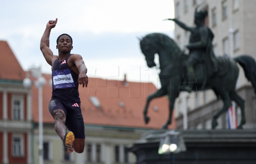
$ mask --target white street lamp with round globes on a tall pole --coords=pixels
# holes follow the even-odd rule
[[[41,70],[41,69],[40,69]],[[44,163],[44,152],[43,152],[43,91],[42,88],[45,84],[45,78],[40,74],[37,74],[36,87],[38,88],[38,152],[39,152],[39,164]],[[32,81],[27,76],[23,80],[23,86],[25,88],[30,88],[32,86]]]

